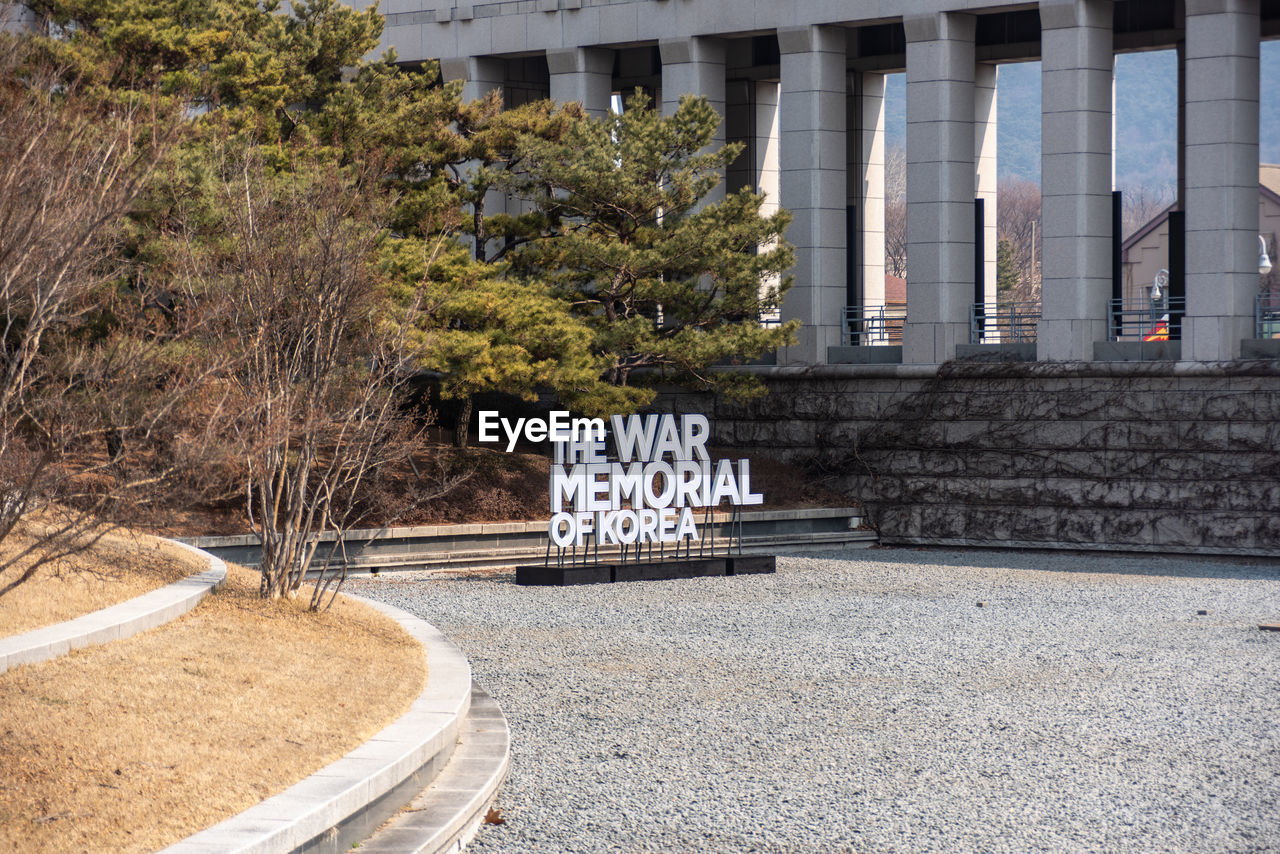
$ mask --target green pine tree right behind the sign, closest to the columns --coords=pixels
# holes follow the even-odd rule
[[[582,120],[559,138],[525,137],[511,187],[545,215],[543,236],[512,252],[513,270],[548,282],[591,329],[605,379],[628,388],[666,376],[753,394],[745,374],[714,371],[794,339],[799,325],[762,325],[791,287],[790,214],[762,215],[742,189],[705,204],[740,145],[708,151],[719,115],[685,97],[669,117],[639,90],[621,115]],[[630,392],[644,403],[652,392]],[[616,399],[572,401],[604,414]]]

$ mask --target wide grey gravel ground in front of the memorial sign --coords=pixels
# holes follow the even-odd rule
[[[1280,850],[1280,565],[351,588],[444,630],[508,717],[507,823],[471,851]]]

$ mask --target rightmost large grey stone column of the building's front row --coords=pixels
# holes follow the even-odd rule
[[[1187,0],[1183,359],[1240,357],[1258,292],[1258,0]]]

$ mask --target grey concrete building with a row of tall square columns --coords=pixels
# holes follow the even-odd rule
[[[596,114],[640,86],[671,110],[703,95],[726,175],[795,215],[803,321],[780,365],[940,364],[1002,348],[996,318],[996,85],[1000,63],[1042,63],[1042,361],[1117,359],[1123,296],[1114,216],[1114,61],[1179,51],[1179,198],[1171,260],[1189,361],[1239,359],[1256,337],[1258,51],[1277,0],[389,0],[384,42],[439,59],[467,97],[552,97]],[[884,76],[906,74],[908,310],[884,303]],[[989,311],[989,307],[987,309]],[[849,319],[854,319],[850,323]],[[984,333],[989,324],[989,330]],[[995,334],[991,334],[995,330]],[[881,330],[882,332],[882,330]],[[1167,353],[1166,353],[1167,355]]]

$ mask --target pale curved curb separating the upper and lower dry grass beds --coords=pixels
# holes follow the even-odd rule
[[[175,620],[195,608],[210,590],[227,580],[227,565],[220,558],[187,543],[166,542],[205,558],[209,561],[209,568],[110,608],[0,639],[0,673],[18,665],[58,658],[81,647],[129,638]]]

